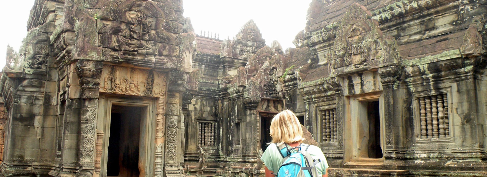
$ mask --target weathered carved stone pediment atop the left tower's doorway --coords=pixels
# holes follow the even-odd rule
[[[191,49],[185,45],[191,38],[181,34],[180,22],[166,18],[166,15],[174,16],[174,10],[166,7],[172,4],[157,3],[152,0],[105,2],[97,16],[105,61],[168,70],[184,65],[187,57],[181,50]],[[159,5],[165,7],[164,11]]]

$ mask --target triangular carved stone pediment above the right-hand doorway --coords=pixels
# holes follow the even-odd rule
[[[377,20],[357,3],[346,11],[336,32],[333,51],[327,56],[331,76],[375,70],[399,62],[394,38],[384,35]]]

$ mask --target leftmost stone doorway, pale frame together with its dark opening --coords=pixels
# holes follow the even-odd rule
[[[97,129],[104,132],[99,177],[146,177],[154,174],[155,99],[111,97],[99,99]],[[99,148],[99,149],[98,149]]]

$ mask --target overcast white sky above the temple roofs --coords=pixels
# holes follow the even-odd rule
[[[294,47],[295,35],[304,29],[311,0],[183,0],[184,16],[191,17],[193,28],[220,33],[220,39],[233,38],[253,19],[270,45],[277,40],[282,48]],[[2,0],[0,11],[0,69],[5,65],[7,44],[19,49],[27,34],[27,20],[34,0]]]

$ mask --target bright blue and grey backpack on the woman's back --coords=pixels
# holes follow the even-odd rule
[[[277,145],[281,152],[282,164],[279,167],[276,177],[320,177],[316,165],[321,161],[313,160],[307,152],[311,145],[301,144],[293,148],[287,148],[286,144]],[[292,152],[293,149],[299,149],[298,152]],[[304,150],[303,150],[304,149]]]

